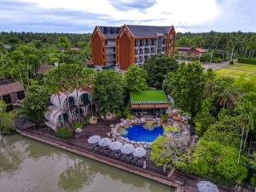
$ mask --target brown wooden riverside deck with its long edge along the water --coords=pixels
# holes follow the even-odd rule
[[[46,143],[51,146],[55,146],[56,148],[61,148],[74,154],[82,155],[86,158],[90,158],[91,160],[107,164],[108,166],[114,166],[126,172],[131,172],[141,177],[146,177],[156,182],[172,186],[177,192],[198,192],[196,183],[200,180],[199,178],[189,176],[183,172],[177,171],[176,169],[167,169],[166,172],[163,172],[162,169],[155,166],[154,162],[150,160],[150,150],[148,150],[146,155],[146,169],[131,166],[119,160],[113,160],[103,156],[102,154],[96,154],[96,152],[91,148],[91,145],[87,143],[87,139],[93,135],[107,137],[106,134],[110,131],[109,125],[115,123],[117,123],[117,121],[104,121],[96,125],[85,125],[82,133],[68,139],[55,137],[55,132],[46,126],[40,126],[35,129],[21,129],[18,131],[21,136],[29,137],[37,140],[38,142]],[[230,191],[230,189],[226,189],[223,186],[218,186],[218,189],[220,192]]]

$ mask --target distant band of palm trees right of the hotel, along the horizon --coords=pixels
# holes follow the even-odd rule
[[[177,33],[177,47],[192,47],[219,50],[225,56],[256,56],[255,32],[201,32]]]

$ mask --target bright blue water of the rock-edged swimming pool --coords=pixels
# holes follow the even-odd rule
[[[156,137],[164,134],[164,129],[161,126],[154,127],[154,130],[147,130],[143,125],[131,125],[126,131],[128,133],[123,137],[136,142],[154,142]]]

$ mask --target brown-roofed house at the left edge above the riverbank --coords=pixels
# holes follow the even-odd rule
[[[7,111],[14,108],[14,104],[25,98],[24,87],[11,79],[0,79],[0,100],[6,102]]]

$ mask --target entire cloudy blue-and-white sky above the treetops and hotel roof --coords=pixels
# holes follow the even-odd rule
[[[95,26],[256,32],[256,0],[0,0],[0,32],[92,32]]]

